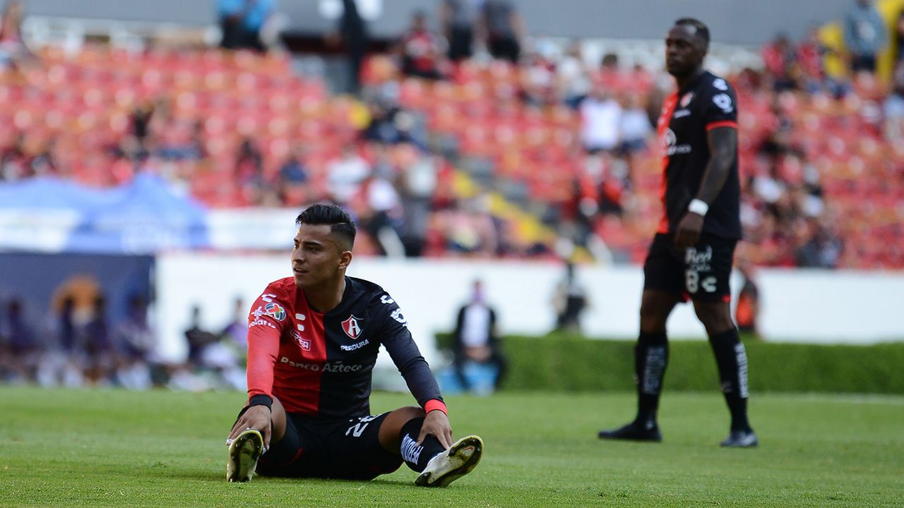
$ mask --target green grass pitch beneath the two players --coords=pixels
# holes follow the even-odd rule
[[[0,388],[0,506],[902,506],[904,398],[758,395],[758,449],[721,449],[720,394],[668,393],[662,444],[602,442],[628,393],[450,397],[457,436],[484,437],[471,475],[420,489],[224,480],[240,393]],[[374,411],[410,405],[377,393]]]

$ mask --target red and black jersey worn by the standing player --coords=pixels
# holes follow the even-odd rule
[[[673,232],[700,191],[710,161],[707,133],[717,127],[738,128],[738,97],[731,85],[704,71],[687,89],[665,99],[657,132],[663,147],[663,219],[660,233]],[[740,182],[735,152],[728,179],[703,221],[703,232],[740,239]]]

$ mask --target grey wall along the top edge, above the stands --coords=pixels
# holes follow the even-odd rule
[[[322,33],[334,23],[321,1],[278,0],[290,29]],[[439,0],[359,0],[378,5],[372,33],[391,37],[408,24],[410,13],[436,19]],[[513,0],[535,35],[659,39],[676,18],[695,16],[710,24],[717,42],[759,45],[778,31],[803,35],[812,24],[838,19],[853,0]],[[129,21],[212,24],[214,0],[25,0],[31,14]]]

